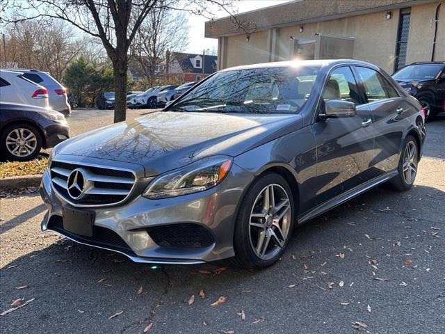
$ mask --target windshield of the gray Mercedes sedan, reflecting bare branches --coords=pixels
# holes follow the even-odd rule
[[[218,72],[184,96],[172,111],[299,113],[320,67],[263,67]]]

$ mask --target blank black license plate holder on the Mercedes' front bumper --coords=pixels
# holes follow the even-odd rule
[[[95,212],[63,207],[63,229],[74,234],[92,237]]]

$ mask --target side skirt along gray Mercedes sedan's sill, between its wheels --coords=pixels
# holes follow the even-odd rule
[[[300,214],[298,216],[298,224],[305,223],[305,222],[309,221],[310,219],[315,218],[316,216],[324,214],[328,210],[343,204],[344,202],[350,200],[351,198],[355,198],[356,196],[359,196],[360,194],[365,193],[369,189],[372,189],[375,186],[378,186],[379,184],[387,182],[388,180],[390,180],[397,174],[398,174],[398,171],[393,170],[393,171],[388,172],[384,175],[380,175],[379,177],[375,177],[375,179],[369,180],[369,181],[365,182],[364,184],[360,184],[359,186],[356,186],[355,188],[350,189],[337,197],[327,200],[323,204],[315,207],[314,209],[312,209],[308,212],[305,212],[303,214]]]

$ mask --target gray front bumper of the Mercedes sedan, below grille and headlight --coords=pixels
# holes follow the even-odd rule
[[[96,232],[93,237],[83,237],[63,229],[63,207],[71,206],[63,196],[54,191],[51,177],[45,171],[40,195],[48,212],[41,228],[42,231],[52,230],[79,244],[122,253],[134,262],[197,264],[221,260],[234,255],[234,216],[243,189],[252,178],[251,173],[234,164],[225,180],[213,189],[161,200],[149,200],[140,196],[140,189],[144,189],[147,184],[138,184],[121,205],[79,207],[78,209],[95,212],[93,228]],[[204,246],[166,246],[159,234],[155,236],[152,232],[154,228],[168,231],[178,224],[182,227],[195,226],[197,230],[206,231],[212,238],[211,243]],[[106,239],[108,234],[112,235]],[[169,237],[168,232],[163,232],[162,235]],[[193,237],[193,234],[188,233],[189,237],[190,235]]]

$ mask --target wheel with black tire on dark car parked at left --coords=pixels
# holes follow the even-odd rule
[[[13,124],[3,129],[2,132],[3,134],[0,136],[0,154],[6,160],[28,161],[37,157],[42,148],[42,136],[38,129],[32,125]],[[28,140],[24,141],[26,138]],[[22,139],[22,144],[15,150],[19,145],[15,142],[18,143]]]

